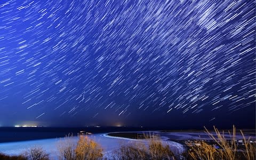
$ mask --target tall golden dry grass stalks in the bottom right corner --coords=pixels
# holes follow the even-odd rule
[[[205,141],[194,141],[189,145],[190,159],[255,159],[255,143],[251,143],[250,138],[246,139],[242,131],[240,132],[243,136],[244,147],[242,149],[237,148],[235,126],[233,126],[233,132],[228,132],[230,140],[227,140],[224,132],[221,133],[215,126],[214,134],[210,133],[206,128],[205,130],[209,137],[220,147],[220,149],[216,149],[214,146],[207,144]],[[194,145],[192,145],[192,143],[194,143]],[[195,145],[195,143],[198,145]]]

